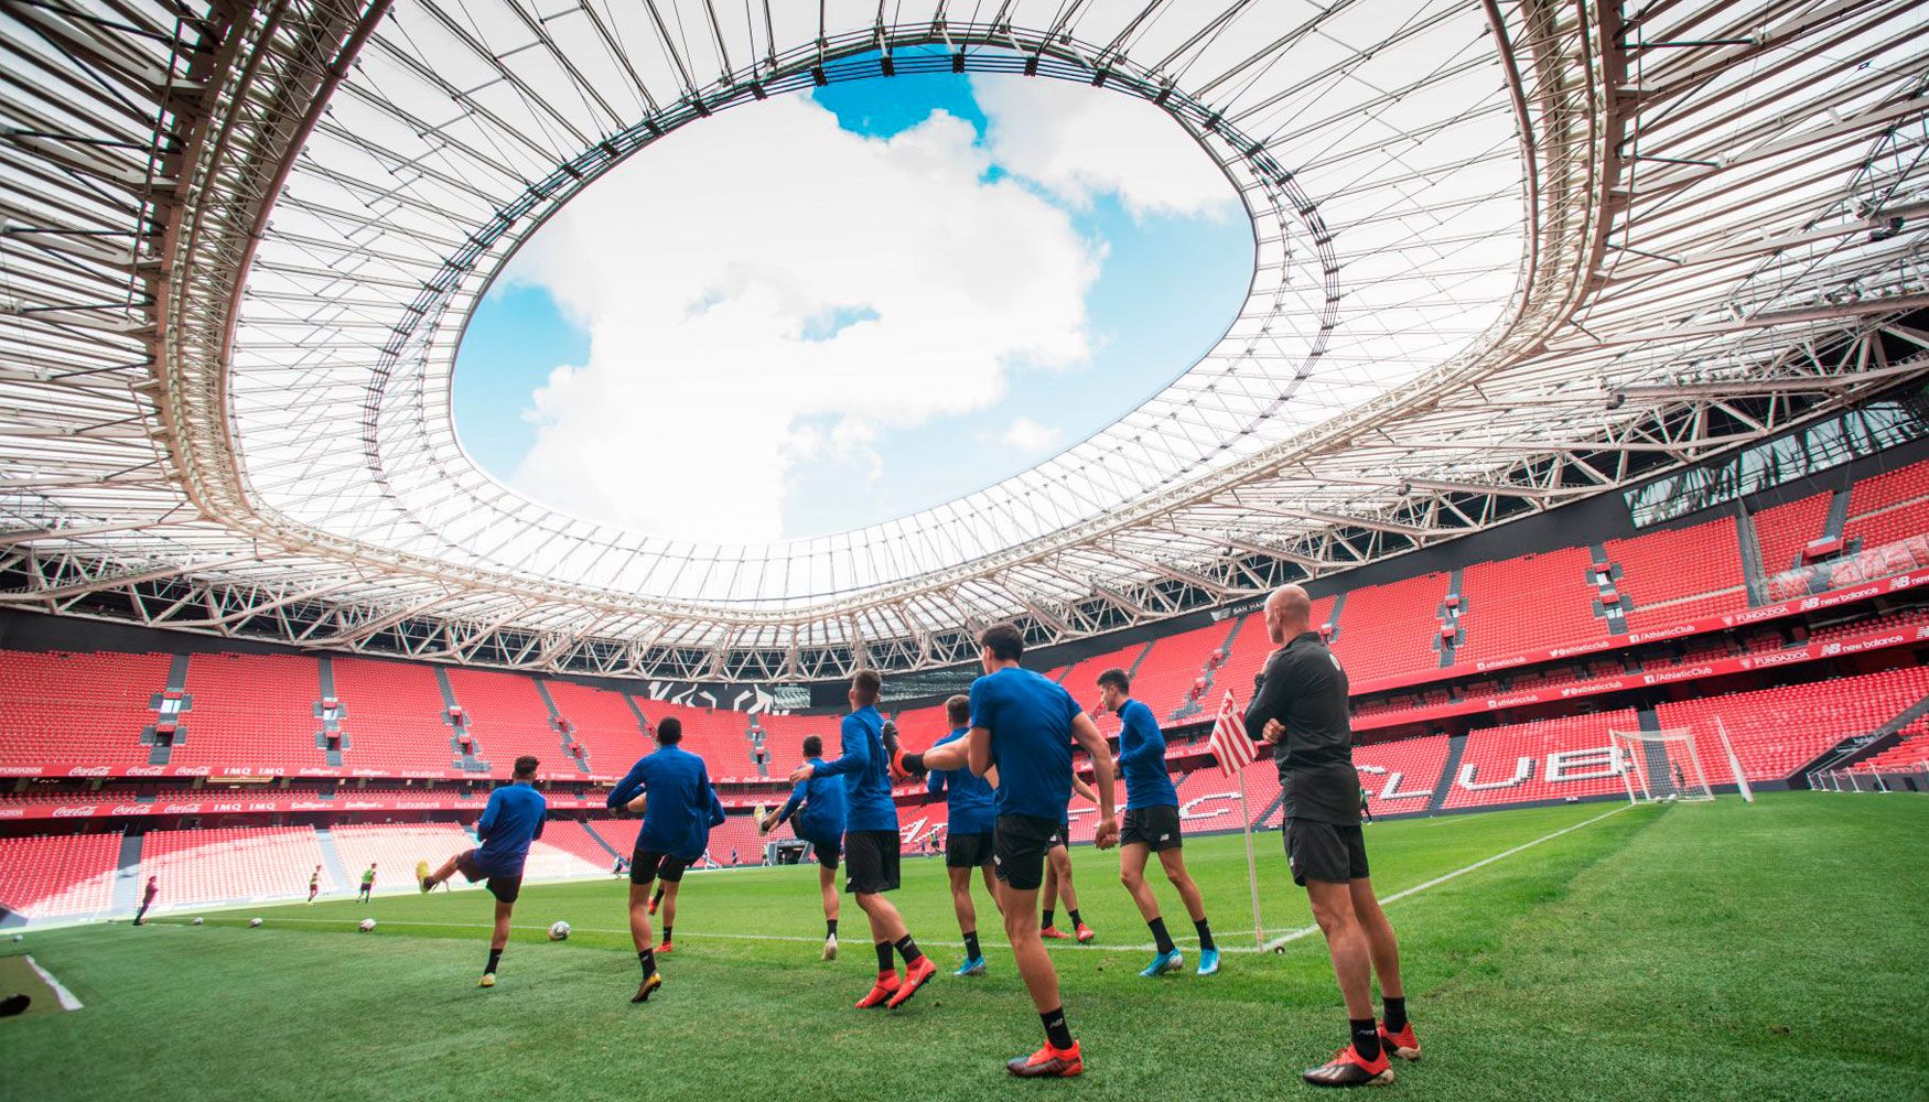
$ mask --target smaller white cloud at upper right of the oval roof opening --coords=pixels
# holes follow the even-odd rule
[[[1163,110],[1071,81],[972,79],[992,160],[1053,195],[1119,195],[1134,218],[1227,218],[1233,183]]]

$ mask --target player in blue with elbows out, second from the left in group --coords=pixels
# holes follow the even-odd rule
[[[642,813],[637,849],[629,857],[629,936],[642,967],[642,982],[629,1002],[648,1002],[650,994],[664,986],[656,955],[671,948],[667,923],[675,921],[677,886],[683,882],[683,870],[702,857],[710,826],[723,820],[723,805],[710,787],[704,758],[679,747],[681,741],[683,720],[675,716],[660,720],[656,753],[637,758],[604,801],[610,809]],[[667,888],[662,946],[650,936],[650,882],[658,876]]]

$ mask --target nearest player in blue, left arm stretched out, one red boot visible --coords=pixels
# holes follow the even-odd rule
[[[1100,849],[1119,840],[1111,805],[1111,753],[1078,708],[1071,693],[1049,677],[1019,666],[1024,635],[1013,623],[997,623],[978,637],[984,677],[970,683],[970,733],[963,741],[922,755],[903,755],[907,774],[951,770],[968,764],[984,776],[997,766],[997,824],[993,861],[1005,882],[1005,936],[1017,957],[1019,975],[1046,1027],[1046,1046],[1005,1063],[1013,1075],[1071,1077],[1084,1071],[1084,1056],[1073,1040],[1059,998],[1059,973],[1038,936],[1038,886],[1046,872],[1046,847],[1065,818],[1073,789],[1073,741],[1092,757],[1098,778]]]

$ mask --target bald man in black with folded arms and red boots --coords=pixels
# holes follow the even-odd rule
[[[1265,598],[1265,635],[1279,650],[1267,658],[1265,677],[1246,708],[1246,731],[1260,733],[1279,766],[1287,867],[1292,882],[1306,888],[1314,921],[1325,934],[1352,1029],[1352,1044],[1302,1077],[1314,1087],[1393,1083],[1389,1056],[1420,1060],[1420,1040],[1406,1021],[1400,948],[1366,870],[1346,670],[1314,631],[1312,600],[1296,585],[1283,585]],[[1379,1025],[1373,1021],[1375,973],[1387,1011]]]

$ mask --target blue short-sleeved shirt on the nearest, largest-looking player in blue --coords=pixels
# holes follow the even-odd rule
[[[970,683],[970,726],[992,731],[999,814],[1065,820],[1078,712],[1065,685],[1019,666]]]

